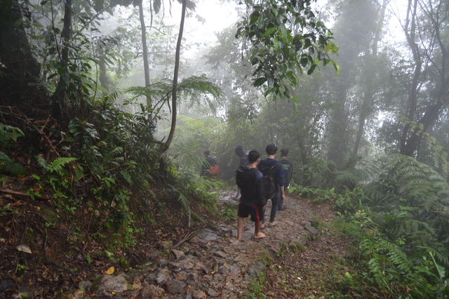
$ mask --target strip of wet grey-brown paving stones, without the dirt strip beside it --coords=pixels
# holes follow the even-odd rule
[[[264,239],[253,239],[254,224],[249,218],[241,241],[235,239],[236,222],[220,223],[199,230],[177,248],[160,246],[161,251],[152,251],[154,263],[83,281],[79,287],[86,293],[64,298],[241,298],[283,248],[307,250],[307,242],[319,237],[312,225],[318,220],[330,219],[321,219],[319,208],[304,207],[288,197],[286,208],[276,215],[279,224],[262,230],[267,234]]]

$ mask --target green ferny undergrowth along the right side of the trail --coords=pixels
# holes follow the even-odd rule
[[[385,298],[449,298],[448,183],[401,155],[373,162],[361,174],[365,182],[346,192],[290,189],[335,205],[346,223],[342,232],[356,241],[366,265],[358,279],[367,286],[377,286]]]

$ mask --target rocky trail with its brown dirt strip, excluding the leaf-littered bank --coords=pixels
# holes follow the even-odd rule
[[[224,194],[222,200],[236,206],[231,194]],[[300,276],[304,263],[319,264],[347,252],[346,242],[323,228],[334,218],[328,205],[310,204],[289,194],[286,209],[276,215],[279,225],[262,230],[267,234],[264,239],[253,239],[249,218],[242,241],[235,239],[236,222],[213,225],[175,248],[157,244],[158,250],[146,253],[153,263],[121,272],[111,267],[94,279],[79,277],[69,288],[72,291],[60,298],[257,298],[255,292],[266,298],[307,298],[298,291],[314,292],[307,290],[307,277]],[[279,272],[281,268],[291,275]],[[8,285],[8,279],[1,281],[0,298],[32,298],[20,291],[11,281]]]

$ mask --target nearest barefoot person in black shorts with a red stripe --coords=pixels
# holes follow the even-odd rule
[[[262,225],[261,215],[267,208],[267,199],[265,198],[263,176],[257,170],[260,154],[256,150],[252,150],[248,154],[248,166],[240,166],[237,169],[236,183],[241,189],[241,197],[239,202],[239,219],[237,220],[237,239],[241,240],[243,231],[243,220],[251,215],[251,220],[255,222],[254,239],[267,237],[260,232]]]

